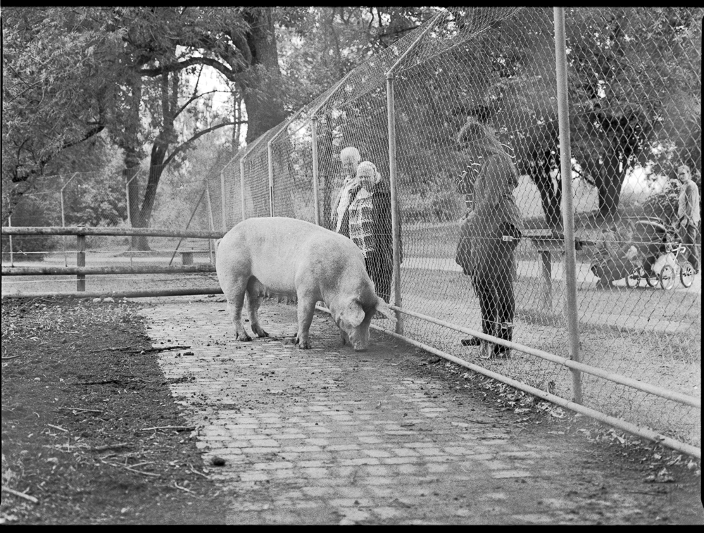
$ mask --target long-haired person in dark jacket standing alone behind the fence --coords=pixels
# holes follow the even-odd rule
[[[518,172],[494,132],[470,118],[458,134],[458,143],[474,163],[481,166],[455,181],[460,194],[474,191],[474,210],[465,215],[460,229],[455,261],[472,277],[479,296],[482,332],[513,340],[515,315],[515,249],[523,231],[523,220],[513,189]],[[508,358],[510,349],[479,339],[463,339],[464,346],[481,344],[479,357]]]

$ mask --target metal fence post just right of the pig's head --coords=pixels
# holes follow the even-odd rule
[[[386,73],[386,112],[389,117],[389,186],[391,188],[391,238],[394,266],[394,306],[401,307],[401,220],[398,218],[398,191],[396,184],[396,114],[394,113],[394,73]],[[396,333],[403,333],[401,313],[396,311]]]

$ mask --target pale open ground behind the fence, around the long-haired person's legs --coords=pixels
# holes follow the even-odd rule
[[[460,272],[412,269],[402,272],[403,307],[447,322],[480,329],[479,301]],[[565,294],[553,283],[553,312],[543,307],[543,282],[520,276],[515,283],[517,311],[514,340],[525,346],[569,357]],[[598,289],[583,282],[577,292],[582,362],[603,370],[699,396],[701,382],[700,296],[660,289]],[[572,376],[534,356],[515,352],[506,362],[474,360],[476,349],[460,346],[466,334],[404,317],[404,332],[438,349],[496,370],[539,389],[553,383],[555,394],[572,397]],[[634,395],[635,394],[635,395]],[[639,425],[700,442],[691,425],[692,408],[667,402],[601,378],[589,378],[585,399],[599,410]],[[623,399],[629,398],[624,403]]]

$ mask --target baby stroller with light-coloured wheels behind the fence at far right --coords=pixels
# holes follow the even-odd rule
[[[694,281],[694,267],[685,261],[686,247],[677,231],[659,218],[643,218],[634,222],[633,245],[636,256],[631,259],[633,270],[626,276],[627,287],[638,287],[645,280],[648,287],[658,283],[665,290],[674,287],[679,277],[684,287]]]

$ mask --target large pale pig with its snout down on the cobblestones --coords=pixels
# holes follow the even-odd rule
[[[250,341],[242,324],[247,295],[249,320],[258,337],[269,334],[257,311],[263,296],[298,300],[298,332],[294,342],[310,349],[308,332],[315,303],[325,302],[340,330],[342,344],[365,351],[375,313],[395,320],[394,312],[375,293],[360,249],[324,227],[295,218],[248,218],[239,222],[215,247],[215,270],[232,313],[236,338]]]

